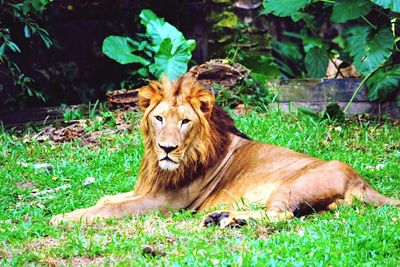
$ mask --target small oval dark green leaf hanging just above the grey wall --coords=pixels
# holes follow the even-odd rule
[[[323,49],[314,47],[307,52],[304,62],[310,78],[322,78],[326,75],[329,56]]]

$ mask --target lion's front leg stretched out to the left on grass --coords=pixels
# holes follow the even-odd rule
[[[175,207],[163,196],[133,196],[114,199],[96,204],[87,209],[78,209],[54,216],[50,223],[58,225],[62,221],[92,223],[96,218],[120,218],[129,214],[141,214],[149,210],[168,210]]]

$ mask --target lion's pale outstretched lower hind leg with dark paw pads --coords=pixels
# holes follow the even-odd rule
[[[249,220],[263,222],[278,222],[292,218],[294,215],[289,211],[278,210],[256,210],[256,211],[215,211],[206,216],[204,226],[218,225],[221,228],[227,226],[243,226]]]

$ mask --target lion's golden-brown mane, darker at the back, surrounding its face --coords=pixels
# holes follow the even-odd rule
[[[185,99],[196,101],[201,98],[204,89],[196,80],[182,77],[176,82],[164,79],[162,82],[151,82],[149,86],[157,91],[150,99],[149,108],[144,113],[140,124],[143,135],[144,154],[135,188],[136,193],[151,193],[160,190],[171,190],[202,177],[206,170],[212,168],[224,157],[230,145],[229,133],[249,139],[236,129],[233,120],[218,105],[214,104],[214,97],[208,103],[207,112],[196,109],[191,105],[200,118],[201,132],[195,142],[188,145],[185,150],[183,162],[175,171],[166,171],[158,166],[158,159],[154,150],[154,135],[149,129],[149,113],[164,98]],[[208,93],[209,94],[209,93]],[[195,98],[195,99],[194,99]],[[143,104],[143,103],[141,103]],[[203,109],[201,106],[200,109]]]

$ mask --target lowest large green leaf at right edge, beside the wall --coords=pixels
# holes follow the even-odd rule
[[[370,100],[387,99],[400,84],[400,66],[387,71],[379,69],[366,82]]]

